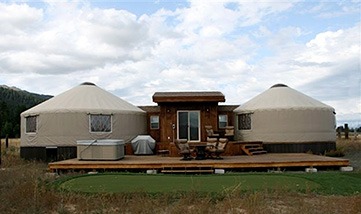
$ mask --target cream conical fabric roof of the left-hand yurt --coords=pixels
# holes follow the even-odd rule
[[[24,111],[22,115],[44,112],[144,113],[140,108],[87,82]]]

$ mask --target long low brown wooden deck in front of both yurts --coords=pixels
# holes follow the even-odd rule
[[[272,153],[255,156],[224,156],[223,160],[182,161],[180,157],[126,155],[116,161],[84,161],[69,159],[49,163],[50,171],[59,170],[164,170],[173,168],[209,168],[225,170],[293,168],[293,167],[341,167],[349,161],[306,153]]]

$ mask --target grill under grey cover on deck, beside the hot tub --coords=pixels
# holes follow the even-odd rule
[[[155,140],[149,135],[138,135],[132,141],[132,148],[136,155],[152,155]]]

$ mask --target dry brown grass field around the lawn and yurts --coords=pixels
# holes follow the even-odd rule
[[[47,164],[19,158],[19,140],[2,141],[0,213],[361,213],[361,193],[321,195],[282,190],[239,192],[223,197],[181,195],[80,194],[61,192],[50,185],[56,178]],[[338,140],[339,150],[361,170],[361,136]],[[63,175],[68,176],[68,175]]]

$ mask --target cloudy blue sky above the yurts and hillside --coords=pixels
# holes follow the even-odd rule
[[[241,105],[284,83],[360,126],[360,5],[0,1],[0,85],[57,95],[90,81],[135,105],[216,90]]]

